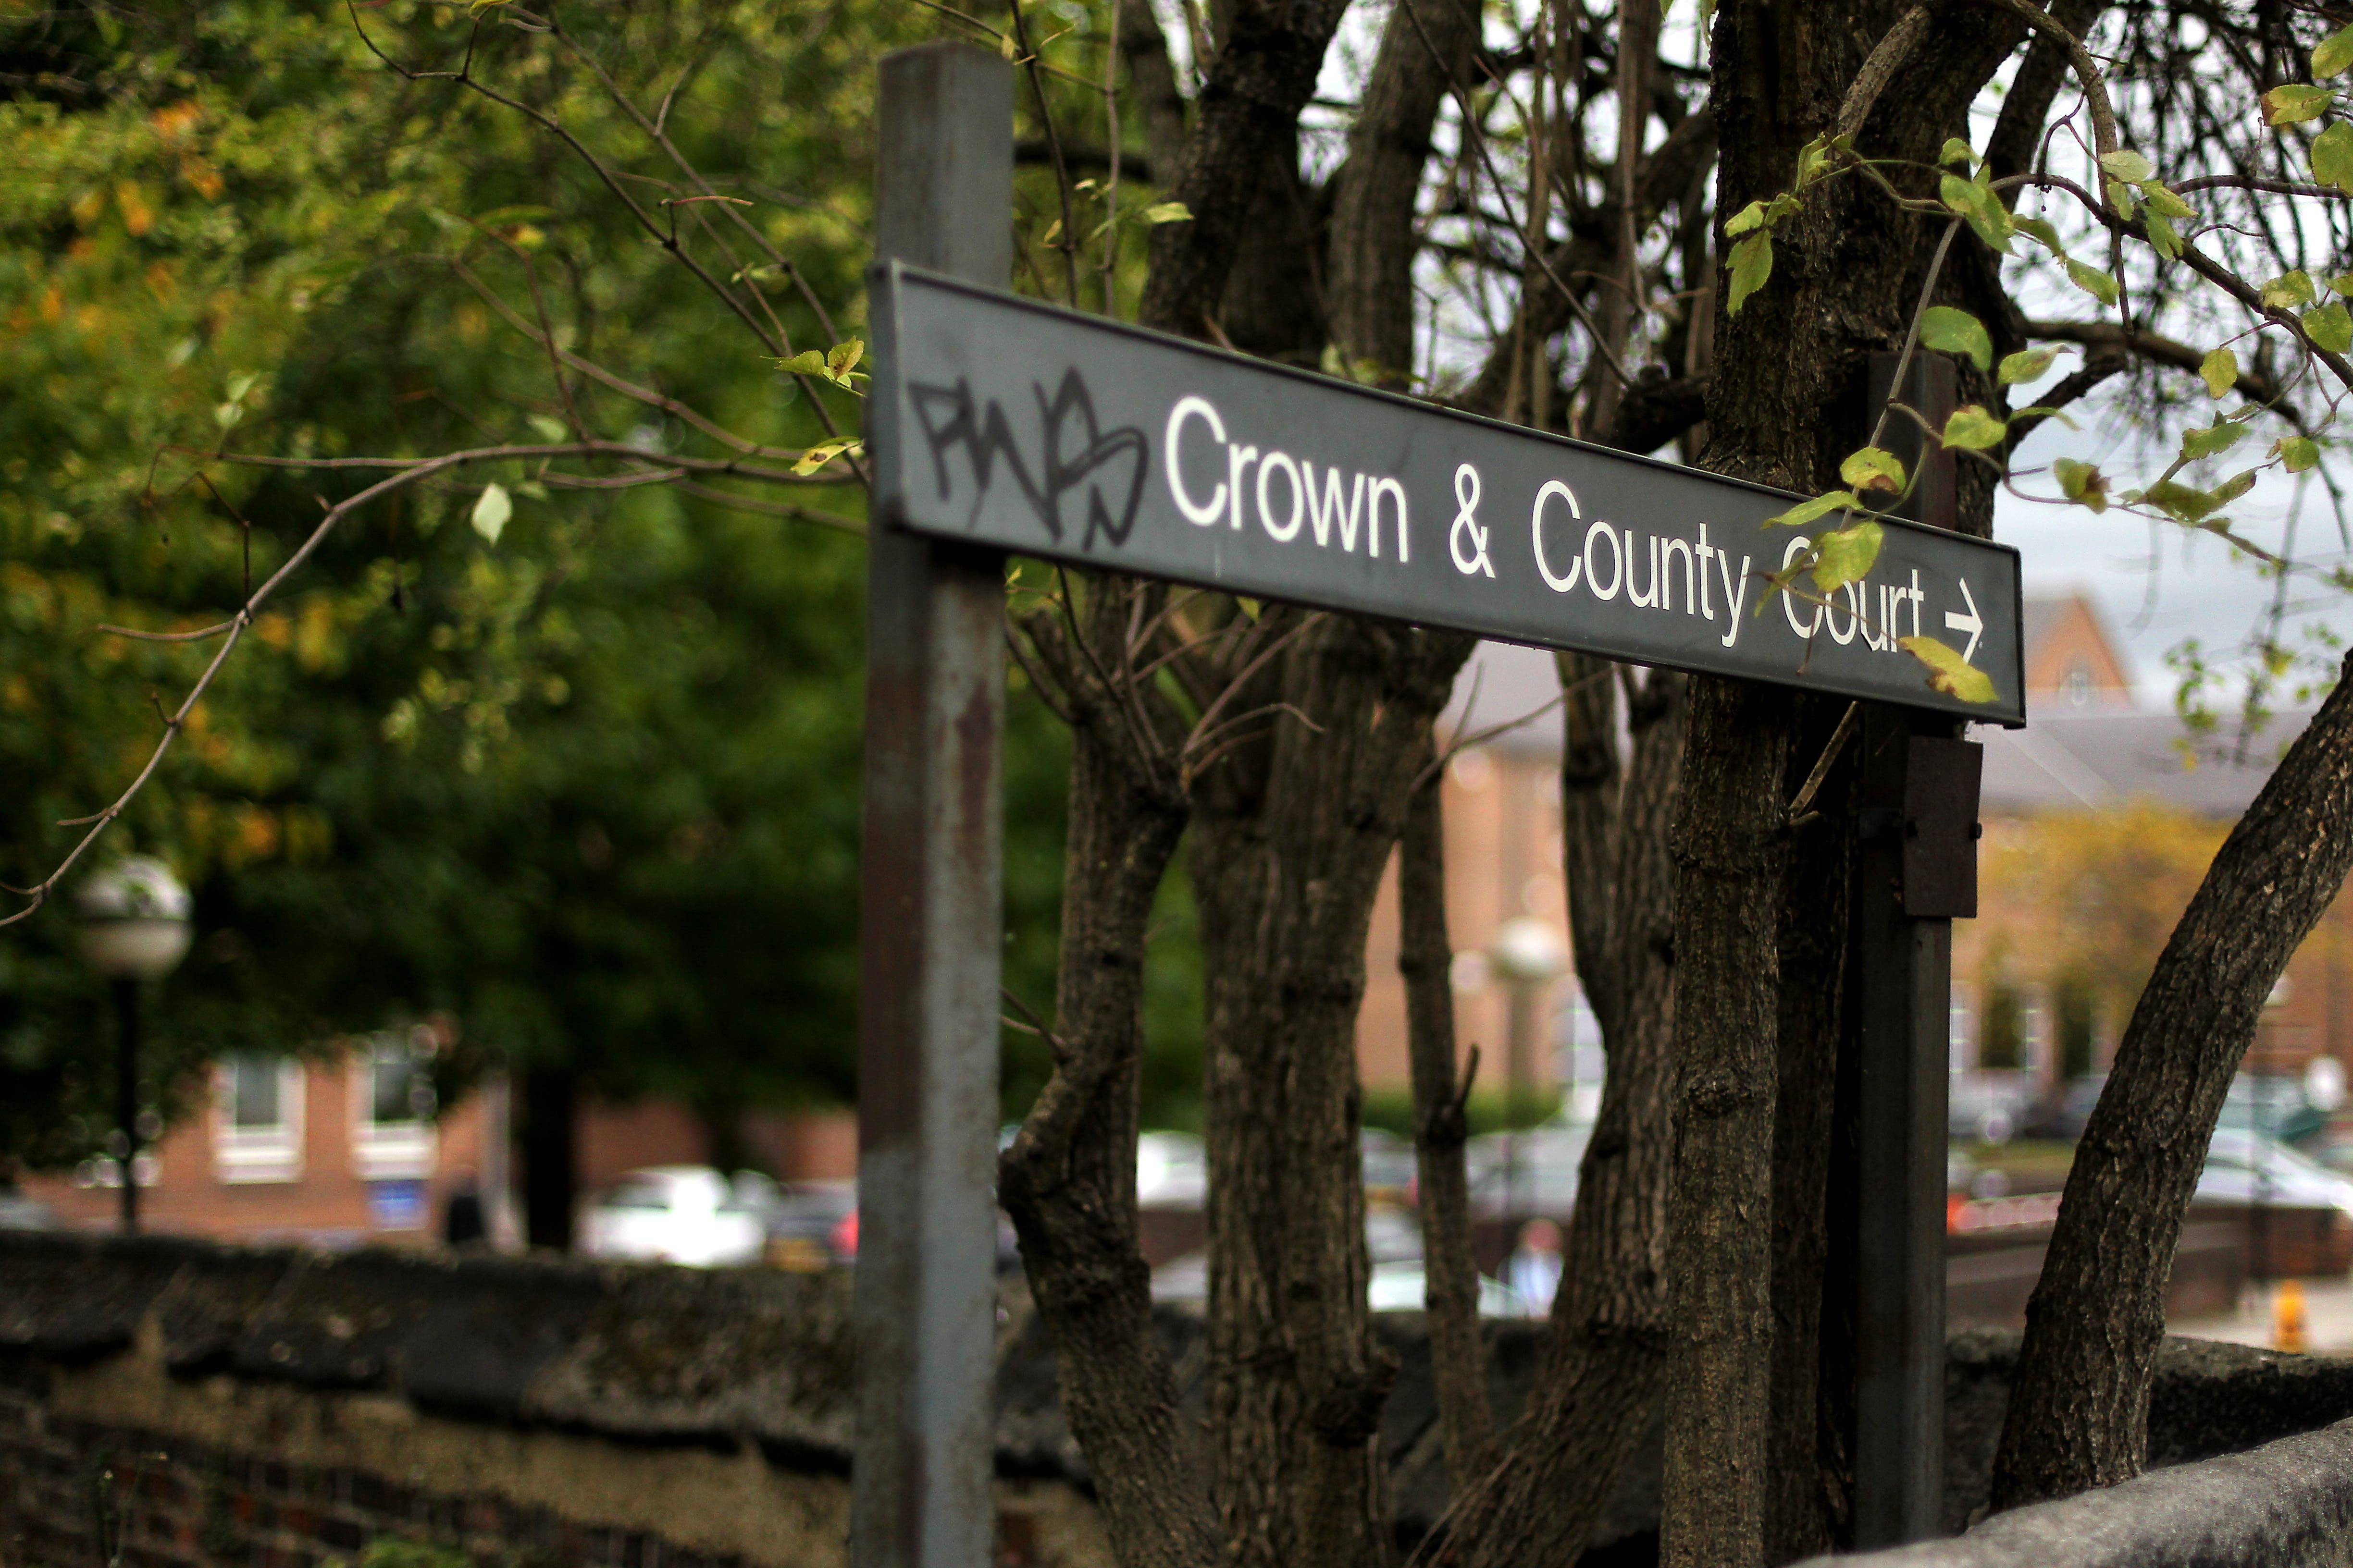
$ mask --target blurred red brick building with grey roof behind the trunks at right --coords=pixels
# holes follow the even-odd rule
[[[2139,705],[2132,668],[2087,595],[2028,599],[2024,611],[2031,722],[2021,731],[1972,731],[1986,745],[1986,839],[1981,919],[1955,922],[1953,931],[1953,1065],[1962,1072],[2028,1072],[2040,1091],[2071,1072],[2106,1067],[2122,1018],[2115,1006],[2087,1004],[2075,978],[2054,969],[2061,945],[2049,933],[2052,922],[2066,919],[2066,910],[2057,907],[2066,889],[2049,889],[2047,879],[2031,875],[2042,844],[2038,835],[2094,818],[2118,830],[2132,820],[2127,813],[2144,813],[2139,820],[2160,823],[2177,839],[2205,835],[2219,844],[2306,715],[2275,717],[2245,748],[2231,736],[2200,750],[2186,743],[2188,731],[2169,708]],[[1464,954],[1457,961],[1457,1025],[1466,1053],[1473,1044],[1482,1048],[1480,1077],[1489,1086],[1499,1081],[1506,992],[1480,950],[1518,914],[1567,931],[1558,788],[1562,731],[1558,708],[1546,708],[1558,693],[1551,654],[1482,644],[1447,715],[1457,733],[1534,715],[1461,752],[1442,785],[1447,914],[1454,947]],[[2212,856],[2212,846],[2202,853]],[[2202,865],[2200,858],[2195,870]],[[2162,917],[2162,929],[2169,929],[2193,886],[2195,875],[2169,907],[2144,912]],[[2162,903],[2162,891],[2151,889],[2148,898]],[[2080,945],[2066,952],[2080,952]],[[2289,964],[2249,1053],[2249,1070],[2299,1072],[2318,1053],[2353,1065],[2348,961],[2353,907],[2339,903]],[[1374,910],[1365,980],[1358,1018],[1362,1081],[1367,1091],[1402,1091],[1409,1072],[1395,863]],[[1988,1013],[2000,1025],[1991,1041]],[[1574,978],[1551,987],[1544,1016],[1548,1041],[1534,1053],[1537,1081],[1598,1079],[1598,1030]],[[1991,1053],[1988,1044],[1995,1046]]]

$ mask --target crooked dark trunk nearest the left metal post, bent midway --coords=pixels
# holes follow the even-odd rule
[[[1127,628],[1165,588],[1099,578],[1073,632],[1033,623],[1071,715],[1054,1074],[998,1161],[1038,1314],[1054,1335],[1061,1408],[1087,1453],[1122,1568],[1207,1568],[1209,1486],[1200,1441],[1153,1333],[1136,1232],[1136,1081],[1144,947],[1153,893],[1186,825],[1174,771],[1148,755],[1153,712],[1134,693]],[[1087,639],[1087,649],[1068,637]],[[1122,691],[1113,682],[1127,679]],[[1174,748],[1169,748],[1174,750]]]

